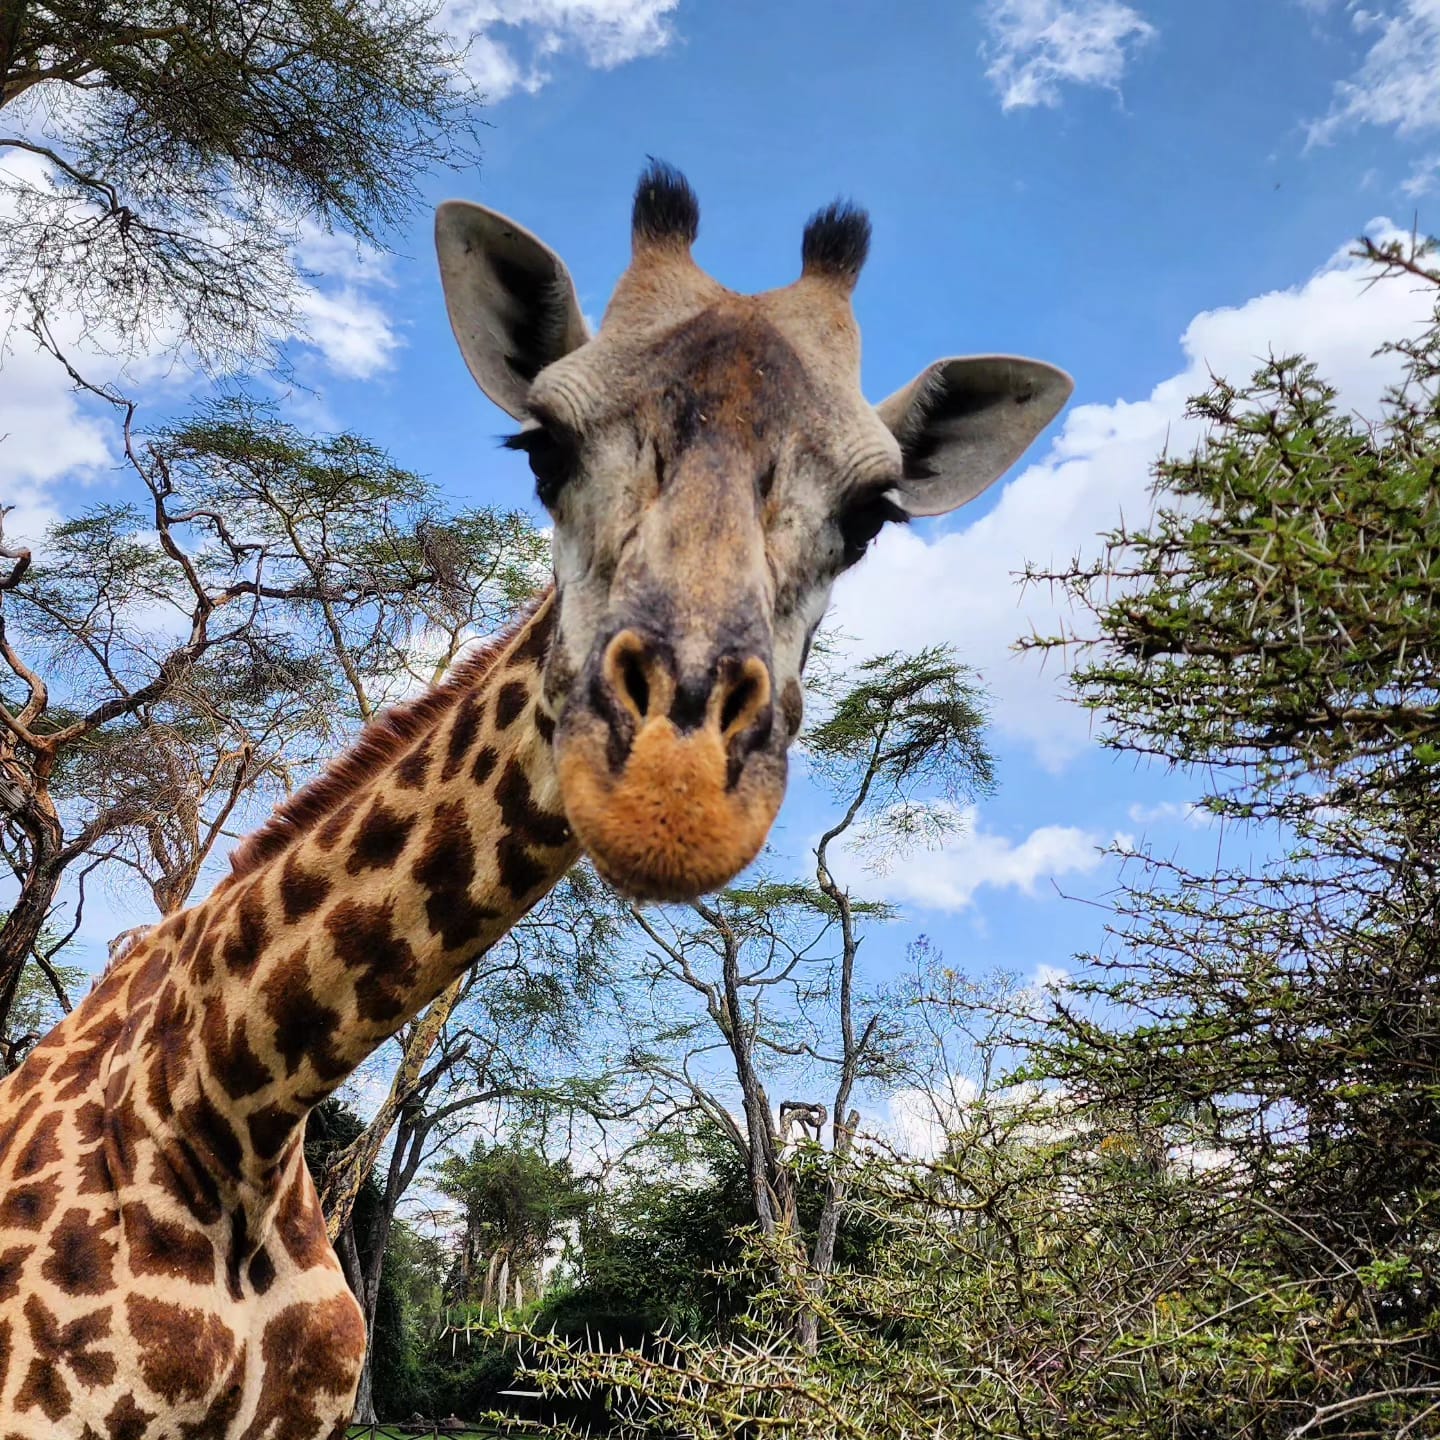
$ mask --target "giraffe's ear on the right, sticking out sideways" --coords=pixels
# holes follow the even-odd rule
[[[1040,360],[936,360],[876,406],[904,455],[900,505],[943,516],[973,500],[1025,454],[1073,389],[1064,370]]]

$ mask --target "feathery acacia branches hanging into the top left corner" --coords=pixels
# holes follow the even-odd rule
[[[372,243],[472,154],[438,4],[0,0],[0,297],[225,367],[295,333],[302,225]]]

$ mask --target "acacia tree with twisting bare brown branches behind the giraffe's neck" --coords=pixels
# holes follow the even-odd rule
[[[239,819],[508,616],[543,552],[518,514],[444,514],[356,435],[230,399],[143,438],[117,403],[143,503],[10,546],[0,579],[0,1022],[92,877],[128,871],[174,910]]]

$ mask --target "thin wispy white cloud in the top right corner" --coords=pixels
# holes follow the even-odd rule
[[[1352,125],[1440,130],[1440,0],[1395,0],[1387,13],[1349,9],[1355,29],[1374,39],[1355,75],[1335,86],[1329,114],[1310,122],[1309,143]]]

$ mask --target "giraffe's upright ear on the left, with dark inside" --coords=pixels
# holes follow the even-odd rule
[[[530,382],[590,338],[564,262],[528,230],[468,200],[435,212],[451,328],[475,383],[526,418]]]

